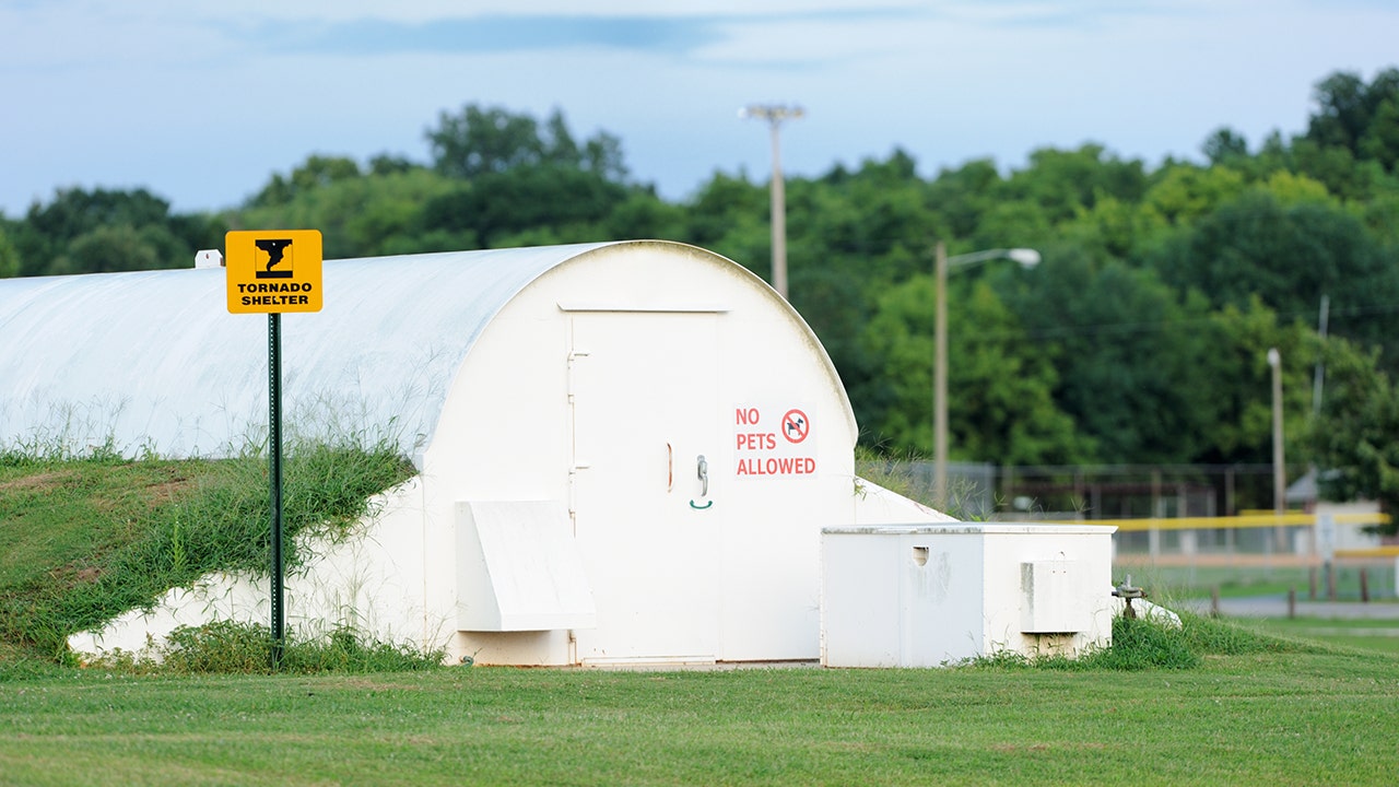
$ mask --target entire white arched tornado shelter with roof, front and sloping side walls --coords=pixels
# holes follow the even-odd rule
[[[294,627],[353,619],[495,664],[814,660],[821,529],[944,520],[858,493],[830,357],[712,252],[327,260],[323,279],[322,312],[283,316],[287,429],[392,434],[420,473],[288,577]],[[227,312],[217,267],[0,280],[0,445],[257,445],[266,322]],[[257,584],[210,577],[74,647],[134,650],[211,609],[266,620]]]

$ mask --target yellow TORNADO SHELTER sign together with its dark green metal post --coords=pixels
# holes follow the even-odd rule
[[[287,629],[281,511],[281,315],[320,311],[318,230],[234,231],[224,237],[232,314],[267,314],[267,476],[271,503],[271,665]]]

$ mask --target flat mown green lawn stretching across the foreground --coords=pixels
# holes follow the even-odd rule
[[[7,784],[1392,784],[1399,660],[0,682]]]

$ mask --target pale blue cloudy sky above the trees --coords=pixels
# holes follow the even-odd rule
[[[1314,85],[1399,66],[1392,0],[0,0],[0,213],[62,188],[241,204],[309,155],[428,162],[463,106],[607,132],[670,200],[783,169],[919,172],[1102,144],[1157,167],[1305,132]]]

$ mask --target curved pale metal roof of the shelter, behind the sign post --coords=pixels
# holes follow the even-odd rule
[[[325,309],[281,318],[287,423],[368,431],[416,455],[499,309],[607,245],[327,260]],[[0,447],[224,455],[262,444],[267,321],[228,314],[224,287],[221,267],[0,280]]]

